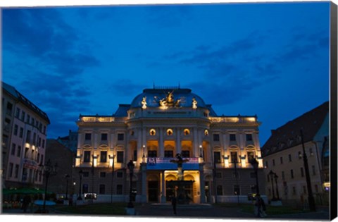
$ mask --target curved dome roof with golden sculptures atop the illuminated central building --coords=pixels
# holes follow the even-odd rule
[[[146,101],[147,107],[158,107],[162,103],[172,107],[189,107],[193,106],[193,101],[196,101],[197,107],[206,108],[203,99],[192,93],[190,89],[180,88],[163,88],[163,89],[145,89],[142,94],[137,95],[132,100],[131,108],[142,107]]]

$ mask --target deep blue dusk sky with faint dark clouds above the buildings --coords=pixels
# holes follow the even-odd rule
[[[144,88],[191,88],[270,130],[329,100],[330,2],[2,11],[2,79],[45,111],[48,137]]]

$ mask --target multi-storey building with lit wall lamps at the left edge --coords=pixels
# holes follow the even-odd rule
[[[39,187],[49,118],[15,87],[2,82],[2,187]]]

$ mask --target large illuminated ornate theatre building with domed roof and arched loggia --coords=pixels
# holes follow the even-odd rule
[[[169,201],[170,180],[177,180],[177,164],[170,160],[179,153],[187,160],[182,168],[184,180],[192,181],[184,187],[191,202],[248,202],[256,192],[251,158],[263,181],[257,117],[217,116],[189,89],[146,89],[113,116],[80,115],[77,125],[78,194],[94,192],[98,202],[129,199],[130,160],[135,201]],[[258,186],[262,194],[264,184]]]

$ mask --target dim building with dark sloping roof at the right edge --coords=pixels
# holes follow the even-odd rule
[[[329,177],[329,102],[282,125],[262,147],[266,194],[283,202],[307,204],[308,188],[303,161],[303,144],[308,159],[311,190],[317,204],[328,204]],[[303,144],[301,137],[303,133]],[[269,173],[277,175],[271,180]]]

